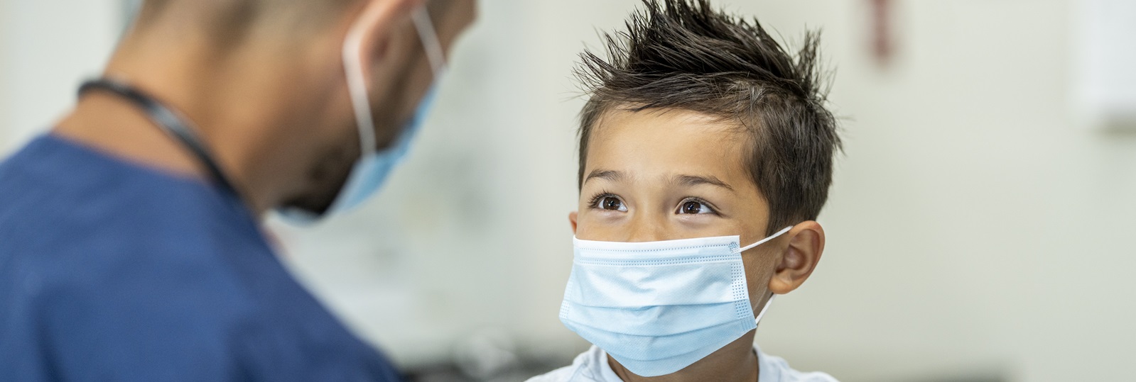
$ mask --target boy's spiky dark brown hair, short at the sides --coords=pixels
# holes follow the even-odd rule
[[[743,163],[769,204],[767,234],[816,219],[841,146],[826,109],[818,34],[805,33],[794,56],[757,19],[727,15],[707,0],[643,3],[626,32],[603,36],[607,58],[580,54],[576,76],[590,99],[580,112],[579,186],[588,137],[604,112],[680,109],[736,124],[747,135]]]

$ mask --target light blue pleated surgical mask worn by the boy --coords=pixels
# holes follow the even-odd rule
[[[737,236],[619,243],[573,239],[560,321],[632,373],[666,375],[757,329]],[[772,302],[772,297],[770,300]]]

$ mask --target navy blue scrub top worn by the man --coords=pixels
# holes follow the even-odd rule
[[[395,381],[235,197],[45,135],[0,163],[0,381]]]

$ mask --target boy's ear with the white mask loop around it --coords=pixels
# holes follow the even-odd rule
[[[784,295],[793,291],[820,262],[825,251],[825,229],[816,221],[805,221],[785,234],[782,243],[787,243],[774,264],[774,277],[769,279],[769,291]]]

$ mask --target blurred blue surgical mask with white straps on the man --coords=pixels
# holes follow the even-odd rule
[[[320,218],[335,215],[344,211],[354,209],[373,196],[386,179],[391,176],[394,167],[402,163],[410,151],[410,143],[421,128],[421,122],[429,112],[434,103],[436,85],[445,73],[445,59],[442,54],[442,44],[434,31],[434,25],[429,19],[429,14],[425,7],[419,7],[412,15],[415,27],[421,40],[426,58],[431,62],[434,73],[434,83],[431,85],[421,102],[415,109],[414,116],[403,126],[395,141],[383,150],[377,148],[375,138],[375,121],[371,117],[370,97],[367,94],[367,83],[362,71],[362,29],[352,27],[343,42],[343,69],[346,73],[348,91],[351,95],[351,107],[356,114],[356,126],[359,131],[359,144],[361,153],[359,160],[351,168],[346,182],[335,196],[332,205],[323,214],[314,214],[307,211],[290,209],[281,211],[282,215],[299,223],[319,220]]]

